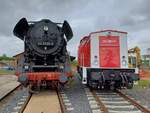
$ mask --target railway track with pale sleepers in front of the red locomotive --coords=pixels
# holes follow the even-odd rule
[[[150,113],[150,110],[121,91],[95,91],[86,89],[92,113]]]

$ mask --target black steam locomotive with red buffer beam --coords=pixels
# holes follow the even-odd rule
[[[72,76],[67,42],[73,37],[67,21],[27,21],[22,18],[13,33],[24,41],[23,68],[18,81],[31,89],[66,83]]]

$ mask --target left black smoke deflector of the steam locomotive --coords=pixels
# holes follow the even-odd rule
[[[26,18],[22,18],[15,26],[13,33],[15,36],[20,38],[21,40],[24,39],[24,36],[26,35],[28,31],[29,25],[26,20]]]

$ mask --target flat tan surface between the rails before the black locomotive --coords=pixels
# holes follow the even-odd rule
[[[23,113],[61,113],[56,91],[34,94]]]

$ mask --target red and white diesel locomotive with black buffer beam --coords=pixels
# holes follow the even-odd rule
[[[127,32],[92,32],[80,41],[78,73],[82,83],[99,88],[132,88],[139,76],[128,68]]]

